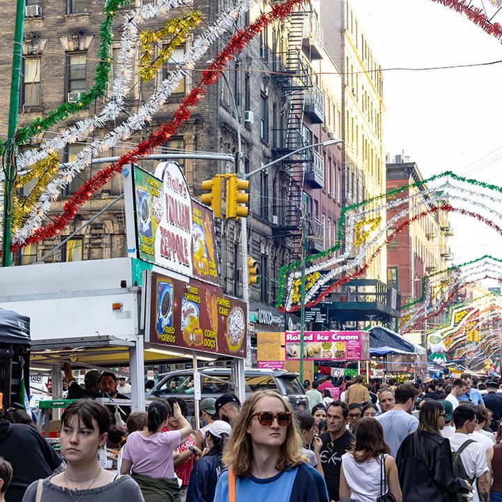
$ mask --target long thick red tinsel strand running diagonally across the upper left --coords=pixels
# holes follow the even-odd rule
[[[304,3],[304,1],[305,0],[287,0],[284,1],[284,3],[275,4],[270,12],[264,13],[256,22],[238,31],[238,33],[231,38],[227,47],[218,54],[213,63],[204,71],[201,82],[193,87],[190,93],[183,98],[181,105],[176,109],[176,112],[174,112],[172,121],[163,123],[159,130],[151,133],[149,138],[140,142],[134,150],[122,155],[116,163],[101,169],[100,172],[89,178],[89,180],[75,192],[73,197],[66,202],[63,206],[63,213],[61,215],[56,216],[47,227],[41,227],[34,231],[31,236],[26,238],[24,243],[13,243],[11,250],[15,252],[20,248],[26,247],[26,245],[34,244],[59,234],[59,232],[75,218],[79,208],[89,200],[89,192],[96,192],[114,178],[117,173],[121,172],[123,166],[139,160],[144,155],[148,155],[155,147],[164,144],[169,137],[172,137],[181,124],[190,118],[191,112],[188,107],[196,105],[201,96],[207,93],[204,87],[211,86],[215,84],[215,82],[218,82],[227,61],[241,51],[252,38],[257,36],[257,34],[263,31],[269,24],[287,17],[296,6]]]

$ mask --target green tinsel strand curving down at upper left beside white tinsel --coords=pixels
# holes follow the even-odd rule
[[[54,124],[68,118],[68,115],[89,108],[94,100],[105,94],[109,81],[109,70],[112,67],[109,61],[109,48],[112,45],[112,36],[109,30],[112,27],[116,11],[121,6],[130,3],[130,1],[131,0],[107,0],[107,3],[105,3],[105,8],[103,10],[106,13],[106,17],[100,24],[100,50],[98,51],[98,59],[100,59],[100,62],[96,66],[94,85],[89,92],[85,93],[76,103],[63,103],[49,112],[47,116],[38,117],[28,126],[20,128],[15,136],[15,144],[19,145],[26,143],[31,137],[38,135],[40,130],[46,130],[54,126]],[[0,149],[3,149],[5,146],[6,142],[0,142]]]

